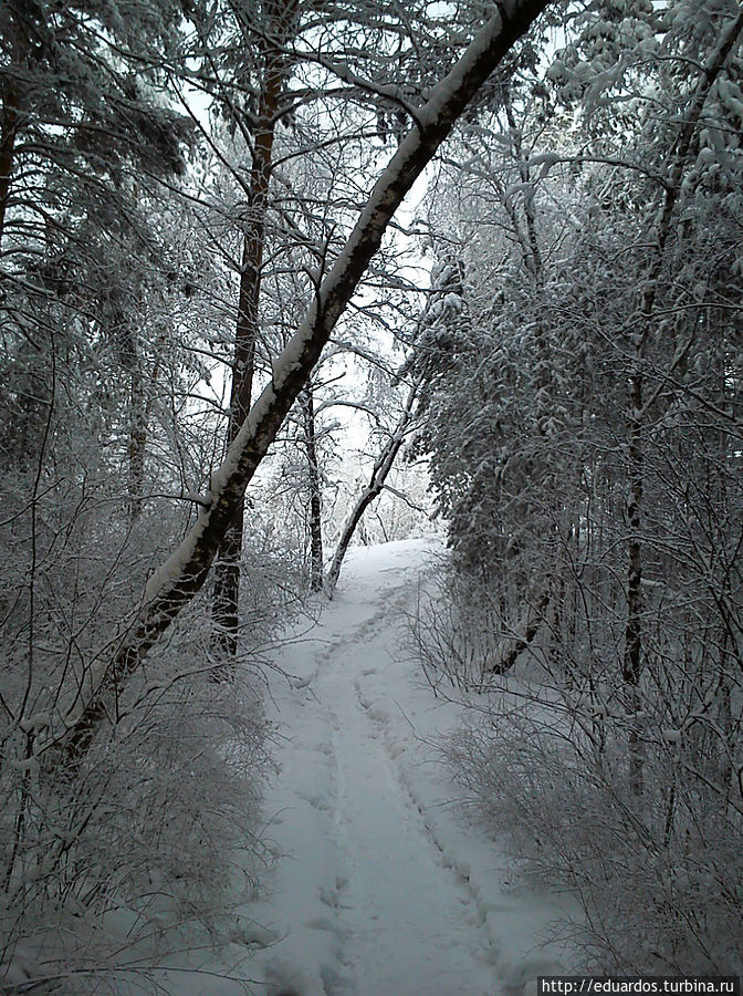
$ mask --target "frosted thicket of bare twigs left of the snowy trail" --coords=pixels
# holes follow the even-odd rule
[[[205,592],[71,762],[54,743],[64,708],[121,639],[127,603],[182,523],[145,510],[133,526],[109,477],[52,483],[32,521],[24,484],[8,480],[0,537],[0,978],[14,977],[23,953],[34,977],[64,975],[61,992],[115,978],[119,993],[127,963],[134,978],[188,936],[229,940],[234,907],[262,878],[263,663],[295,584],[282,550],[254,536],[233,681],[213,681]]]

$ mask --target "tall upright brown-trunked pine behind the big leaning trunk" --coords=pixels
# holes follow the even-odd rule
[[[426,3],[416,3],[404,17],[394,3],[350,9],[282,0],[250,9],[227,4],[222,17],[197,7],[193,23],[196,53],[207,73],[205,89],[250,156],[247,170],[230,166],[245,203],[240,212],[241,255],[234,264],[239,294],[229,445],[250,407],[257,347],[261,341],[265,345],[265,278],[271,270],[281,272],[282,263],[295,266],[291,250],[297,241],[303,250],[320,247],[315,264],[321,268],[343,243],[343,229],[352,224],[349,206],[358,199],[349,181],[349,172],[358,165],[352,165],[347,149],[357,157],[370,127],[385,143],[390,134],[399,139],[406,101],[432,83],[439,70],[433,60],[423,64],[416,58],[406,35],[415,37],[418,46],[428,42],[444,65],[457,46],[446,18],[431,14]],[[322,49],[316,41],[321,30]],[[276,145],[279,183],[272,179]],[[375,152],[369,149],[372,160]],[[271,260],[268,269],[264,258]],[[227,660],[238,650],[241,542],[238,511],[214,571],[217,655]],[[314,542],[316,552],[317,531]]]

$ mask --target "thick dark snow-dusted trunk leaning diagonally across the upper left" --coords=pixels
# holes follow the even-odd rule
[[[272,382],[253,404],[212,475],[196,523],[149,578],[140,606],[122,626],[111,656],[88,664],[73,703],[66,712],[50,717],[51,728],[45,727],[44,741],[36,738],[35,753],[60,745],[66,765],[74,769],[102,720],[108,717],[116,722],[118,697],[128,677],[203,585],[245,487],[379,249],[395,211],[469,101],[547,3],[548,0],[516,0],[509,4],[507,12],[495,13],[451,72],[430,91],[428,101],[416,108],[414,127],[377,180],[304,320],[276,359]]]

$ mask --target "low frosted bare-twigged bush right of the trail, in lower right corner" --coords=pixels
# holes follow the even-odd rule
[[[548,685],[491,696],[488,717],[447,756],[475,818],[522,871],[579,902],[583,920],[562,926],[587,971],[740,974],[743,795],[730,771],[721,780],[714,723],[681,732],[662,715],[645,719],[641,801],[626,717]]]

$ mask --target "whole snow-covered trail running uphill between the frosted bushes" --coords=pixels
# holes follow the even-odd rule
[[[265,996],[495,996],[562,966],[540,947],[555,915],[509,886],[464,826],[431,737],[459,707],[400,650],[425,573],[421,541],[352,552],[320,622],[276,657],[280,772],[266,801],[281,857],[251,915]]]

